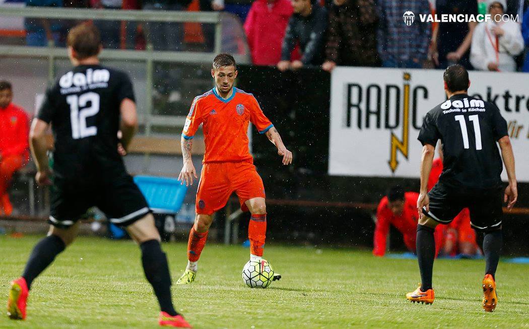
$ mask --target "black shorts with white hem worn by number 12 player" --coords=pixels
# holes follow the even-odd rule
[[[94,206],[119,226],[128,226],[150,213],[145,197],[125,171],[113,177],[90,180],[56,177],[50,191],[48,223],[61,229],[74,225]]]

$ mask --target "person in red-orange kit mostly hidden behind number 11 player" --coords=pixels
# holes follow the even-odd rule
[[[443,171],[443,146],[440,145],[439,158],[433,160],[432,171],[428,177],[428,191],[434,187],[439,180]],[[442,227],[443,246],[441,253],[447,256],[463,254],[474,256],[480,253],[479,246],[476,243],[476,231],[470,226],[470,212],[464,208],[449,225],[437,225],[436,230]]]

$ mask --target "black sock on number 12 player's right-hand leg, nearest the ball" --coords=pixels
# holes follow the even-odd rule
[[[140,244],[141,262],[147,281],[152,285],[154,295],[158,298],[160,309],[171,316],[178,315],[172,305],[171,276],[166,254],[158,240],[149,240]]]

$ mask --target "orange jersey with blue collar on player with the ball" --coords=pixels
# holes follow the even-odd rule
[[[232,96],[223,99],[213,88],[193,100],[182,136],[192,139],[202,124],[206,143],[203,163],[253,162],[248,148],[250,122],[260,134],[273,127],[252,94],[233,87]]]

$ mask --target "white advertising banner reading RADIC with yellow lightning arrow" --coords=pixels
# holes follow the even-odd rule
[[[495,102],[507,120],[517,178],[529,181],[529,74],[469,71],[469,77],[469,95]],[[442,70],[336,67],[329,174],[419,177],[423,117],[445,99]]]

